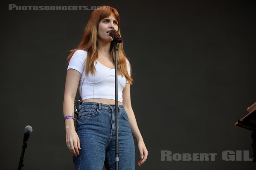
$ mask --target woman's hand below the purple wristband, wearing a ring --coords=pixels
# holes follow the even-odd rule
[[[80,139],[76,133],[75,128],[66,129],[66,144],[69,151],[73,154],[73,156],[79,155],[80,147]]]

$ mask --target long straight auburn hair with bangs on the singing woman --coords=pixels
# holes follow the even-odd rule
[[[98,26],[99,22],[106,18],[109,17],[111,14],[114,14],[117,20],[117,26],[118,26],[118,31],[117,33],[121,37],[121,32],[119,28],[119,23],[120,23],[120,17],[118,12],[116,11],[115,8],[112,8],[110,6],[102,6],[97,9],[95,9],[89,18],[89,21],[87,23],[87,26],[84,29],[84,35],[82,37],[82,40],[78,47],[76,49],[70,50],[70,54],[67,57],[67,65],[70,62],[71,57],[75,53],[76,50],[86,50],[87,51],[87,58],[86,58],[86,69],[85,69],[85,75],[87,76],[89,71],[91,74],[95,74],[96,69],[94,66],[94,61],[98,58],[98,51],[97,51],[97,38],[98,38]],[[111,53],[111,60],[114,63],[115,62],[115,53],[114,53],[114,41],[111,42],[110,46],[110,53]],[[119,44],[117,43],[118,51],[117,51],[117,74],[121,75],[122,77],[125,76],[127,81],[132,85],[133,79],[129,76],[128,71],[127,71],[127,65],[126,65],[126,59],[127,57],[125,56],[125,52],[123,49],[122,43]],[[131,73],[131,64],[130,65],[130,73]]]

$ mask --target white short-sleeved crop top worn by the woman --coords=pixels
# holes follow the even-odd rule
[[[79,94],[81,99],[113,99],[115,100],[115,69],[108,68],[102,65],[99,61],[95,61],[95,83],[94,75],[89,71],[88,76],[85,76],[85,65],[87,51],[77,50],[72,58],[70,59],[67,70],[73,68],[81,73],[81,78],[79,81]],[[130,64],[128,59],[126,59],[127,70],[129,76],[130,73]],[[84,80],[84,82],[83,82]],[[125,76],[118,75],[118,101],[122,102],[122,90],[125,88],[126,80]],[[93,94],[93,84],[94,84],[94,94]],[[82,92],[82,94],[81,94]]]

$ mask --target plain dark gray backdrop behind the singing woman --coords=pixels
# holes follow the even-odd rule
[[[16,169],[31,125],[24,170],[72,170],[62,102],[66,58],[92,11],[9,11],[17,6],[113,6],[121,17],[134,85],[131,102],[149,151],[137,170],[253,170],[224,161],[249,150],[234,127],[256,102],[256,4],[250,0],[5,1],[1,6],[0,169]],[[78,99],[79,96],[77,96]],[[139,152],[136,146],[136,162]],[[160,161],[172,153],[217,153],[215,161]]]

